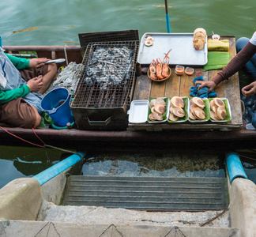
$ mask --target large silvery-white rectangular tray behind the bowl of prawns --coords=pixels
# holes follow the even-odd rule
[[[154,42],[152,46],[145,46],[145,38],[152,36]],[[141,43],[137,55],[137,62],[150,64],[152,59],[163,60],[165,54],[169,53],[171,65],[183,66],[203,66],[207,63],[208,47],[207,36],[205,47],[201,51],[196,51],[193,47],[193,33],[145,33],[141,38]]]

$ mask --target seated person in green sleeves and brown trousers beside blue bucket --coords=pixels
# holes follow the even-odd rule
[[[24,128],[40,126],[43,93],[57,73],[55,64],[44,64],[48,60],[17,58],[0,47],[0,122]]]

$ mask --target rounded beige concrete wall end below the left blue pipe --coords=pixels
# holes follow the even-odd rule
[[[36,179],[14,179],[0,190],[0,220],[36,220],[42,201]]]

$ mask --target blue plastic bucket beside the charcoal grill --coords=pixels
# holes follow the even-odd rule
[[[41,107],[58,126],[66,126],[67,122],[73,122],[70,100],[71,96],[66,88],[55,88],[43,97]]]

